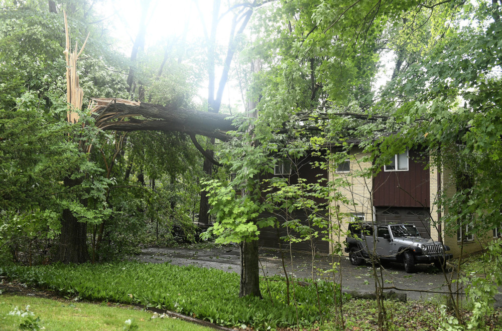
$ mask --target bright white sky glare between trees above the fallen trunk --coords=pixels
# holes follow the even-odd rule
[[[200,12],[202,13],[203,21],[200,18],[199,11],[192,0],[152,0],[149,10],[149,20],[146,37],[146,48],[156,45],[164,39],[179,37],[182,35],[185,24],[189,24],[187,33],[187,42],[195,41],[204,38],[204,29],[208,33],[212,21],[212,1],[199,0]],[[220,12],[225,10],[225,1],[222,1]],[[111,27],[111,35],[122,41],[121,51],[126,55],[131,55],[133,41],[138,34],[138,29],[141,19],[141,2],[139,0],[107,0],[103,7],[103,13],[117,13],[111,22],[115,25]],[[220,15],[221,15],[220,14]],[[116,19],[119,18],[119,19]],[[218,25],[217,43],[219,45],[228,44],[228,33],[231,26],[231,14],[226,15]],[[216,81],[219,81],[221,68],[216,68]],[[207,82],[203,85],[207,86]],[[235,87],[236,82],[229,82],[223,93],[223,103],[238,106],[243,110],[241,93]],[[207,100],[207,87],[199,90],[199,100],[204,102]],[[232,111],[236,110],[235,108]]]

